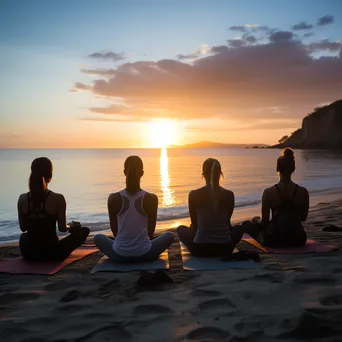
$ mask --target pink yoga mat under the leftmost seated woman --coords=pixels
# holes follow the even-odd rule
[[[65,266],[97,252],[94,247],[79,247],[64,261],[26,261],[22,257],[0,261],[0,272],[11,274],[52,275]]]

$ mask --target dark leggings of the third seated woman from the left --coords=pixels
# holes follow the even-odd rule
[[[177,228],[179,240],[196,256],[221,257],[231,255],[235,246],[241,240],[243,230],[241,226],[232,227],[230,243],[194,243],[195,232],[187,226]]]

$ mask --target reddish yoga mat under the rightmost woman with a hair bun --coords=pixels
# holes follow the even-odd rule
[[[326,253],[338,249],[337,246],[323,245],[314,240],[307,240],[306,244],[301,247],[288,247],[288,248],[275,248],[275,247],[264,247],[260,243],[254,240],[250,235],[243,234],[243,241],[250,243],[256,248],[261,249],[265,253],[275,254],[306,254],[306,253]]]

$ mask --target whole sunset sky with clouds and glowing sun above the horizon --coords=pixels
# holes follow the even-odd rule
[[[2,0],[0,148],[275,144],[341,47],[340,0]]]

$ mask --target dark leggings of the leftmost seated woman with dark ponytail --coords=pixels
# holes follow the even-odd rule
[[[34,241],[27,233],[24,233],[21,234],[19,240],[20,253],[29,261],[64,260],[84,243],[89,232],[87,227],[77,228],[70,232],[69,236],[56,243]]]

